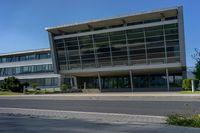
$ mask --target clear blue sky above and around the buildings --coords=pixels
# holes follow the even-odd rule
[[[183,5],[187,65],[200,49],[200,0],[1,0],[0,53],[49,47],[45,27]]]

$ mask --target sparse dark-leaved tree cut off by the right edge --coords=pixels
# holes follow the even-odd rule
[[[193,74],[196,76],[197,79],[200,80],[200,50],[195,48],[195,53],[192,55],[192,58],[196,61]]]

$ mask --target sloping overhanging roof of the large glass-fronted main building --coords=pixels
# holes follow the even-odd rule
[[[139,13],[134,13],[130,15],[124,15],[124,16],[117,16],[117,17],[111,17],[111,18],[104,18],[104,19],[97,19],[97,20],[91,20],[86,22],[80,22],[80,23],[73,23],[73,24],[66,24],[61,26],[54,26],[54,27],[46,27],[45,30],[51,33],[60,33],[60,31],[70,31],[70,30],[76,30],[76,29],[86,29],[90,27],[100,27],[103,25],[107,25],[109,23],[116,23],[116,24],[123,24],[123,22],[129,22],[141,19],[142,17],[145,18],[151,18],[158,17],[158,16],[170,16],[170,15],[177,15],[178,8],[181,8],[182,6],[176,6],[171,8],[163,8],[158,10],[151,10],[151,11],[144,11]]]

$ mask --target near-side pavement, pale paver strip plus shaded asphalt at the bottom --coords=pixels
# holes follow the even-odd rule
[[[0,108],[0,131],[70,133],[199,133],[200,128],[165,124],[166,117],[95,112]],[[14,126],[13,126],[14,125]],[[22,128],[23,127],[23,128]]]

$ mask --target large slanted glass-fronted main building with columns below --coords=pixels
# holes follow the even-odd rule
[[[46,30],[54,72],[72,87],[172,91],[186,77],[182,7]]]

